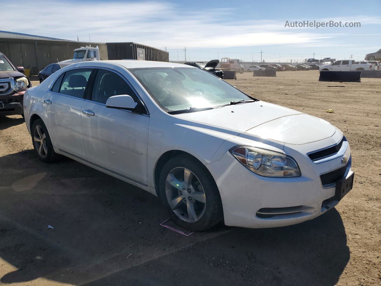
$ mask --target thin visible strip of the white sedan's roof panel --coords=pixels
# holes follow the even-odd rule
[[[136,59],[115,59],[115,60],[105,60],[105,61],[83,61],[80,63],[73,63],[75,67],[81,66],[123,66],[126,69],[135,69],[142,67],[188,67],[196,68],[186,64],[177,64],[163,61],[138,61]]]

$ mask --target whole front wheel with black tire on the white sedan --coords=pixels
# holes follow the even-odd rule
[[[188,230],[204,231],[223,219],[215,180],[204,165],[191,157],[179,155],[165,163],[159,177],[159,194],[173,220]]]

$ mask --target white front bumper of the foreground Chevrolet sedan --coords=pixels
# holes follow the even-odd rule
[[[349,146],[345,156],[351,156]],[[240,164],[230,152],[205,165],[219,188],[225,224],[248,228],[282,227],[314,219],[334,207],[338,203],[333,198],[335,186],[323,188],[320,174],[343,167],[341,158],[320,164],[308,160],[297,160],[302,176],[295,178],[261,177]],[[349,160],[344,177],[352,174]],[[259,214],[263,210],[295,207],[301,211],[270,216]]]

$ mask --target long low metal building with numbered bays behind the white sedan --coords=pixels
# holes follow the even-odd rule
[[[70,59],[73,50],[81,46],[99,47],[102,59],[107,59],[105,43],[77,42],[36,35],[0,31],[0,51],[14,64],[37,74],[48,64]]]

